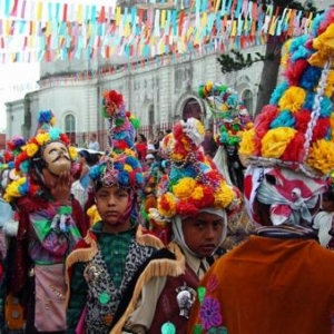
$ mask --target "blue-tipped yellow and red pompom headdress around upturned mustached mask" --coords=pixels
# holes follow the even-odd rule
[[[55,116],[51,110],[39,112],[38,128],[35,137],[31,137],[27,143],[24,140],[16,140],[12,143],[17,156],[14,158],[14,167],[17,173],[22,177],[11,183],[3,198],[7,202],[12,202],[16,198],[30,195],[33,196],[40,189],[40,185],[32,181],[30,174],[33,167],[41,161],[45,147],[52,141],[62,143],[69,151],[70,159],[75,161],[77,150],[70,146],[70,140],[65,132],[53,127]]]

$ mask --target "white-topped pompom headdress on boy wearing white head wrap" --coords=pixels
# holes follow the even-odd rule
[[[157,208],[150,209],[156,222],[169,222],[176,215],[196,216],[204,208],[229,209],[236,204],[234,188],[204,154],[204,135],[203,124],[189,118],[177,122],[164,138],[170,169],[158,185]]]

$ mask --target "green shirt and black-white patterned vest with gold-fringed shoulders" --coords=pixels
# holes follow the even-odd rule
[[[143,235],[136,225],[112,235],[102,233],[101,222],[96,223],[67,259],[71,282],[67,333],[75,333],[82,312],[85,333],[108,333],[134,273],[159,246],[158,239]]]

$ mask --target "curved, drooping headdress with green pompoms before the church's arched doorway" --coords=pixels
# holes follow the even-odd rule
[[[238,145],[242,134],[253,127],[247,108],[235,89],[212,81],[200,85],[198,95],[212,111],[219,127],[220,145]]]

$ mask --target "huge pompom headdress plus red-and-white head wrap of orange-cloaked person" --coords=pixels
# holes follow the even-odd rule
[[[334,167],[334,9],[318,16],[310,36],[286,42],[284,80],[243,135],[239,153],[248,213],[255,197],[271,206],[274,225],[311,223]]]

